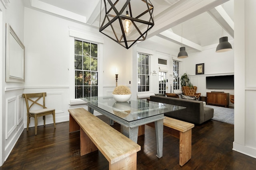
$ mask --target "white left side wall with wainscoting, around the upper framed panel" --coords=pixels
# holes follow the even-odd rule
[[[24,83],[5,82],[5,36],[6,23],[9,23],[19,37],[22,43],[24,42],[24,4],[23,1],[8,1],[1,0],[0,2],[0,17],[1,17],[1,128],[0,128],[0,165],[10,154],[18,137],[23,131],[23,115],[22,115],[22,98],[21,94],[24,88]]]

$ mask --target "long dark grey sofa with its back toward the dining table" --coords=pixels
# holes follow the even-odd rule
[[[165,116],[172,117],[174,119],[194,124],[202,124],[213,117],[214,109],[211,107],[204,107],[204,103],[201,101],[163,96],[150,96],[150,101],[186,107],[186,109],[164,114]]]

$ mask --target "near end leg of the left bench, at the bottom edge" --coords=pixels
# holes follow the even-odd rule
[[[118,162],[110,163],[109,170],[136,170],[137,169],[137,152],[130,156],[119,160]]]

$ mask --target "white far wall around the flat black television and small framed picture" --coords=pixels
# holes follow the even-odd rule
[[[229,41],[234,49],[234,42]],[[188,58],[182,59],[183,73],[190,75],[190,80],[197,86],[197,92],[206,96],[206,92],[222,91],[234,95],[234,90],[206,89],[206,76],[220,76],[234,74],[234,50],[224,53],[216,53],[216,45],[204,47],[204,50],[188,54]],[[196,64],[204,63],[204,74],[196,75]],[[182,74],[181,72],[181,74]],[[230,106],[234,106],[229,102]]]

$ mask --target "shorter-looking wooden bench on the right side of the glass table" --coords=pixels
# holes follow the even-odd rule
[[[170,117],[164,119],[164,132],[180,139],[180,166],[183,166],[191,158],[192,128],[195,125]]]

